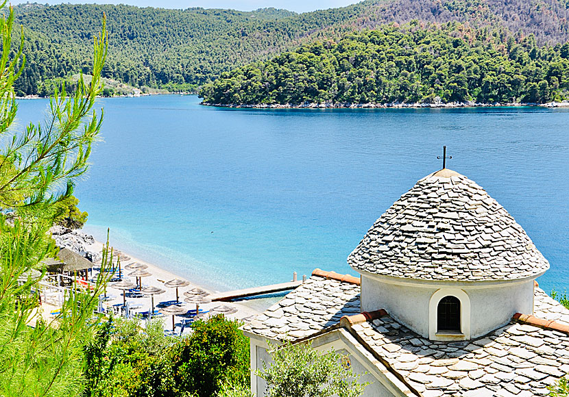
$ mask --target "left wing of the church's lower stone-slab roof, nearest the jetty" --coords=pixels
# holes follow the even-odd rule
[[[274,340],[295,340],[359,312],[359,284],[312,276],[243,330]]]

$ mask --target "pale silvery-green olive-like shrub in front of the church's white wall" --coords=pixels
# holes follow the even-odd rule
[[[319,353],[310,344],[271,345],[273,362],[257,372],[267,381],[269,397],[356,397],[363,394],[361,375],[346,357],[330,350]]]

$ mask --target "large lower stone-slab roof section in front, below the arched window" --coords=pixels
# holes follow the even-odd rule
[[[569,373],[569,335],[527,324],[465,342],[432,342],[388,316],[352,331],[424,397],[548,396]]]

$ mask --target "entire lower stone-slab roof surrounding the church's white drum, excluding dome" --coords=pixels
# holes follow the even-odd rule
[[[243,329],[273,340],[301,340],[337,329],[343,316],[351,316],[342,326],[423,397],[548,396],[546,387],[569,373],[567,333],[512,321],[475,340],[433,342],[385,311],[359,314],[359,292],[355,283],[313,276]],[[534,314],[569,320],[569,310],[539,288]]]

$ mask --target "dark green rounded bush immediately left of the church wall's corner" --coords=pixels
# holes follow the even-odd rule
[[[213,316],[192,325],[191,337],[176,344],[171,353],[178,393],[214,396],[223,383],[249,382],[249,340],[239,323]]]

